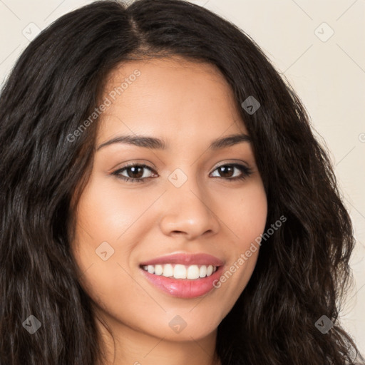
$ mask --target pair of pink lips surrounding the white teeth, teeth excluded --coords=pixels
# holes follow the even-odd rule
[[[217,271],[213,272],[210,277],[202,277],[199,279],[164,277],[163,275],[150,274],[141,268],[145,278],[163,292],[178,298],[196,298],[207,294],[214,288],[213,283],[217,282],[220,278],[224,262],[217,257],[207,254],[175,254],[142,262],[140,267],[156,264],[211,264],[217,266]]]

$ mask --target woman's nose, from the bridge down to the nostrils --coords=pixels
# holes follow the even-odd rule
[[[160,229],[165,235],[184,235],[186,240],[194,240],[214,235],[220,228],[214,197],[193,178],[180,187],[168,186],[161,207]]]

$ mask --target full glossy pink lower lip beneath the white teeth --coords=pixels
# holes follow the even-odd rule
[[[202,277],[200,279],[174,279],[141,270],[148,281],[155,285],[155,287],[158,287],[158,289],[163,290],[163,292],[178,298],[196,298],[209,293],[215,288],[213,282],[220,278],[222,268],[223,266],[220,266],[210,277]]]

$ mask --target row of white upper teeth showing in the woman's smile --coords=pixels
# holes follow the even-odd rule
[[[182,264],[157,264],[142,267],[150,274],[163,275],[164,277],[174,277],[175,279],[199,279],[202,277],[210,277],[217,271],[217,267],[213,265],[190,265]]]

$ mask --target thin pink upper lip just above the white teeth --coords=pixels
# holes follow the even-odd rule
[[[140,266],[157,265],[157,264],[185,264],[185,265],[213,265],[222,266],[224,262],[215,256],[208,255],[205,253],[189,254],[189,253],[179,253],[167,256],[156,257],[155,259],[150,259],[140,263]]]

